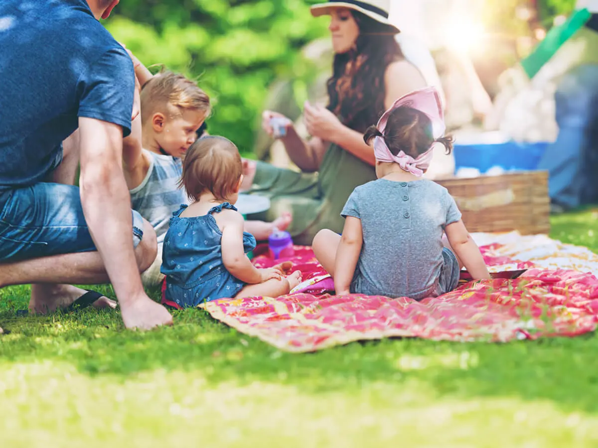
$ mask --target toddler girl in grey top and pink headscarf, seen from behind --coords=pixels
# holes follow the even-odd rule
[[[451,151],[443,134],[440,97],[429,87],[396,100],[365,133],[378,180],[350,195],[342,236],[323,230],[313,240],[337,294],[435,297],[457,286],[463,265],[476,280],[490,278],[447,189],[421,178],[435,143]]]

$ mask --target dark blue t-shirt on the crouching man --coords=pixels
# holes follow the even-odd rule
[[[85,0],[1,0],[0,48],[0,189],[43,180],[80,116],[130,133],[133,63]]]

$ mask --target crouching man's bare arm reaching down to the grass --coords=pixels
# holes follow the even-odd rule
[[[102,256],[127,327],[171,324],[172,317],[143,289],[132,244],[130,196],[122,171],[123,130],[94,118],[79,118],[81,204]]]

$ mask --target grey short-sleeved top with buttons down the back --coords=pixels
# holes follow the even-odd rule
[[[341,215],[360,219],[363,229],[353,292],[387,297],[420,297],[435,288],[444,227],[461,219],[447,189],[425,179],[358,186]]]

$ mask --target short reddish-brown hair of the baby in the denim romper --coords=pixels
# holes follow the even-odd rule
[[[234,143],[224,137],[205,136],[185,154],[179,186],[187,190],[191,200],[209,191],[224,201],[233,193],[242,173],[241,155]]]

